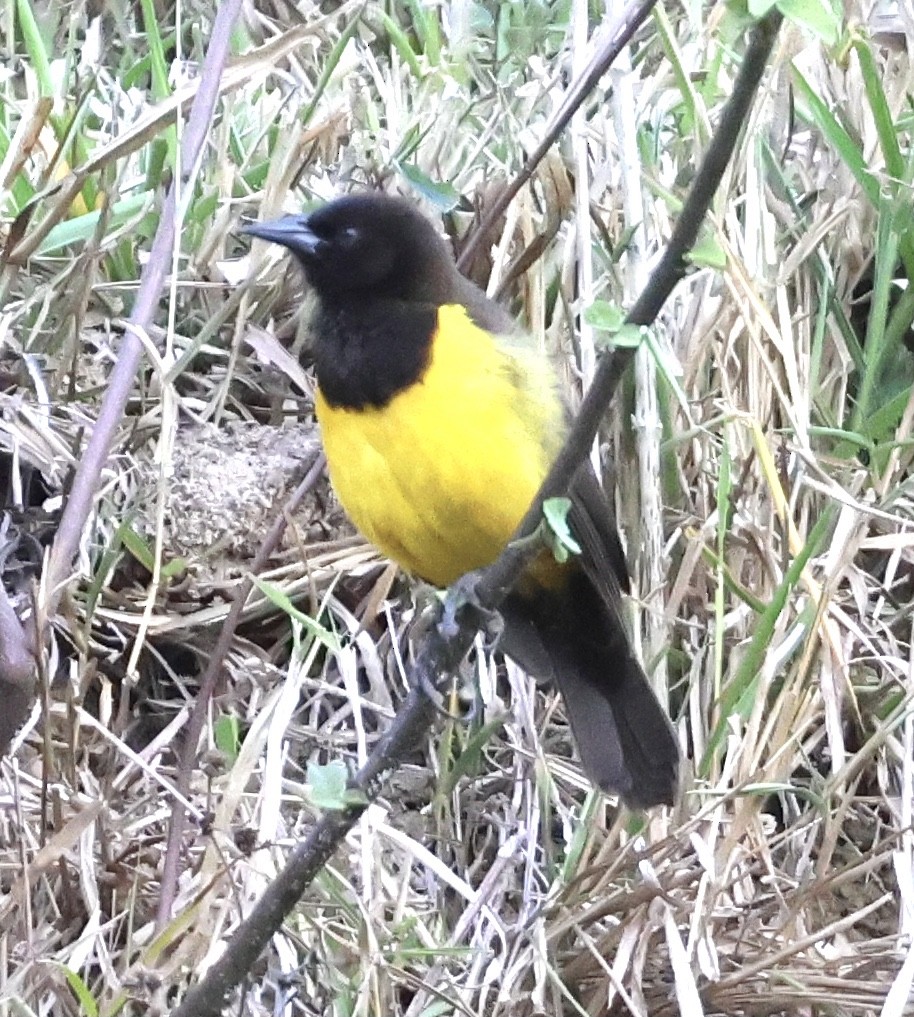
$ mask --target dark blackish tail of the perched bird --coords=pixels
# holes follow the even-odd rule
[[[584,572],[561,591],[513,594],[502,648],[559,687],[588,776],[631,809],[672,804],[679,746],[615,611]]]

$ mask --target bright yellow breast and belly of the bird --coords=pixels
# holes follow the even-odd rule
[[[316,411],[352,521],[437,586],[498,556],[564,432],[546,366],[504,348],[456,305],[438,311],[420,381],[380,410],[334,408],[318,393]]]

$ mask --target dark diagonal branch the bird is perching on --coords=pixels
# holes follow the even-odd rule
[[[780,23],[780,14],[773,11],[752,31],[733,94],[724,108],[721,126],[708,148],[669,247],[628,316],[632,323],[649,324],[685,273],[685,254],[694,243],[698,227],[746,122]],[[532,534],[537,528],[546,498],[567,490],[590,450],[597,427],[630,357],[627,352],[625,355],[604,356],[568,439],[521,524],[517,538]],[[517,541],[512,541],[498,560],[485,570],[476,590],[484,607],[498,606],[519,578],[525,560],[525,551],[517,546]],[[351,782],[351,787],[364,793],[366,801],[377,795],[384,776],[399,766],[427,733],[435,708],[423,690],[428,683],[440,685],[449,680],[473,644],[479,610],[463,605],[456,621],[456,625],[439,621],[423,638],[416,664],[409,669],[410,694],[386,734]],[[282,926],[285,916],[296,906],[365,807],[363,803],[345,812],[327,812],[321,816],[236,930],[225,952],[203,978],[187,992],[171,1017],[219,1017],[229,993],[245,977],[262,949]]]

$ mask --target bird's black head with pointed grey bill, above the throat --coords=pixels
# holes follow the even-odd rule
[[[288,247],[320,297],[440,304],[459,279],[444,240],[414,204],[381,192],[348,194],[304,216],[244,232]]]

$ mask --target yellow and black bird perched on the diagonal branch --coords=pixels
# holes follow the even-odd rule
[[[350,194],[246,232],[288,247],[316,297],[317,419],[353,522],[436,586],[491,563],[567,430],[546,358],[404,198]],[[581,554],[529,567],[501,648],[558,685],[592,780],[632,807],[671,803],[678,746],[625,635],[628,574],[589,464],[569,497]]]

